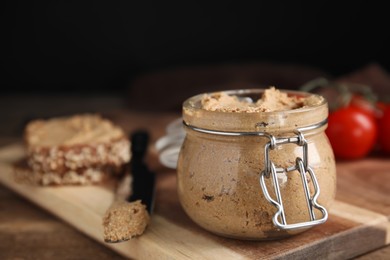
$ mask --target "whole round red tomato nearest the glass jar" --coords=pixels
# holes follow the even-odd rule
[[[373,149],[377,128],[375,119],[362,108],[347,106],[329,114],[326,134],[336,158],[358,159]]]

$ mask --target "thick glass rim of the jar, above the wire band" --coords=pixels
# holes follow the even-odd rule
[[[260,98],[265,90],[264,88],[234,89],[192,96],[183,102],[183,120],[188,125],[211,130],[285,132],[318,124],[327,119],[328,103],[325,98],[317,94],[296,90],[279,89],[289,96],[318,97],[319,102],[310,106],[270,112],[210,111],[201,106],[201,99],[206,94],[224,92],[239,97],[257,95]]]

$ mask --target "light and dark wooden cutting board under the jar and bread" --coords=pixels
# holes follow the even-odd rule
[[[0,149],[0,182],[96,241],[136,259],[345,259],[390,243],[390,160],[370,158],[338,163],[338,190],[329,220],[298,236],[250,242],[215,236],[181,209],[175,172],[158,165],[155,214],[139,238],[107,244],[102,216],[113,188],[36,187],[15,182],[12,163],[24,156],[20,144]],[[153,156],[152,156],[153,157]]]

